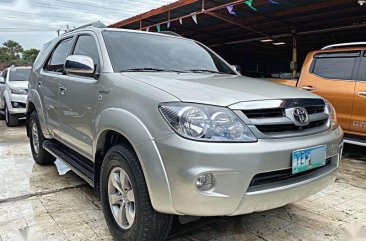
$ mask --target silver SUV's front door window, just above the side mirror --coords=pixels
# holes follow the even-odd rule
[[[73,55],[84,55],[93,59],[95,69],[98,72],[99,68],[99,54],[98,47],[93,36],[80,35],[76,42]]]

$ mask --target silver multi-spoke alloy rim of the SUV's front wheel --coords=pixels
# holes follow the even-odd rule
[[[135,195],[127,173],[116,167],[109,174],[109,206],[118,225],[129,229],[135,220]]]

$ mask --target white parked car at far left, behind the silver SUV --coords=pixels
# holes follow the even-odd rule
[[[31,67],[10,67],[0,77],[0,118],[7,126],[17,126],[25,117]]]

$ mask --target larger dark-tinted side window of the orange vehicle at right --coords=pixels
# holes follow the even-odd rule
[[[322,53],[314,56],[312,73],[327,79],[352,80],[360,52]]]

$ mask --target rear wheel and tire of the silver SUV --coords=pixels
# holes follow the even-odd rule
[[[32,112],[29,118],[29,138],[34,161],[39,165],[48,165],[55,162],[56,158],[43,149],[45,141],[37,112]]]

